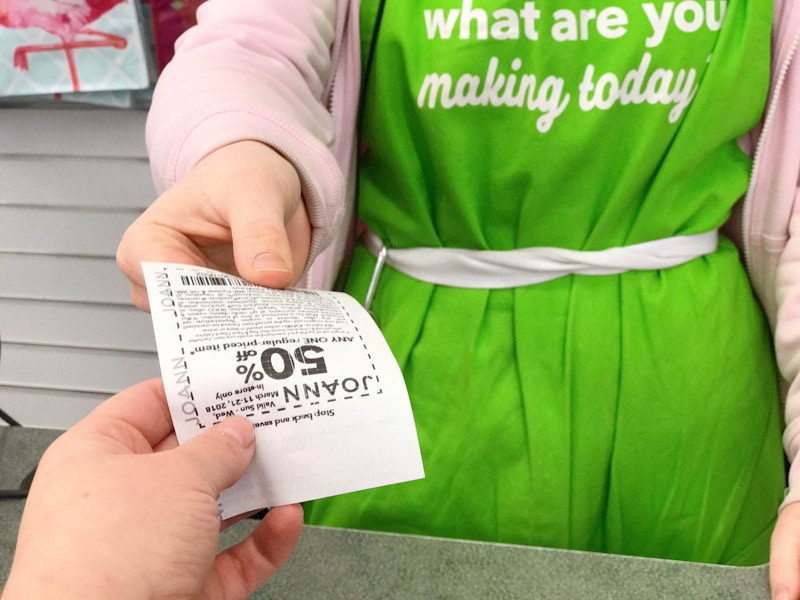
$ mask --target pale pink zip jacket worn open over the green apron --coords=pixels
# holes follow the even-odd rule
[[[742,142],[750,188],[731,219],[769,317],[785,383],[786,502],[800,500],[800,0],[775,0],[762,123]],[[360,80],[358,0],[207,0],[159,79],[147,125],[163,191],[222,145],[255,139],[300,174],[313,228],[303,285],[331,285],[352,208]],[[794,108],[795,110],[791,110]],[[796,202],[795,200],[798,200]]]

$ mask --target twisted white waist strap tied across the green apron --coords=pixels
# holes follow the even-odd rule
[[[428,283],[495,289],[541,283],[569,274],[613,275],[666,269],[714,252],[718,240],[719,234],[713,230],[594,251],[550,247],[389,249],[372,231],[367,232],[365,241],[379,259],[373,275],[375,283],[385,261],[401,273]]]

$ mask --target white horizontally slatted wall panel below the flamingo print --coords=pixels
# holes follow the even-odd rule
[[[141,111],[0,109],[0,408],[66,428],[159,374],[114,255],[155,192]]]

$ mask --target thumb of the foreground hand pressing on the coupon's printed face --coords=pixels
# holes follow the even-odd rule
[[[244,417],[228,417],[174,451],[184,467],[217,496],[244,475],[255,454],[255,431]]]

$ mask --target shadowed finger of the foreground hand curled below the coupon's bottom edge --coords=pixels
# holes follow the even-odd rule
[[[247,538],[217,556],[206,588],[221,589],[224,598],[249,597],[286,562],[302,530],[302,506],[273,508]]]

